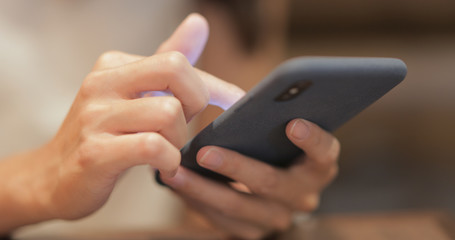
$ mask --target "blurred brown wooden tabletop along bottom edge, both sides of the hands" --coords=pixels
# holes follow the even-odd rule
[[[78,236],[39,237],[36,239],[223,239],[214,232],[179,228],[160,232],[80,233]],[[296,223],[288,232],[270,239],[277,240],[394,240],[455,239],[455,221],[445,212],[387,212],[313,216]]]

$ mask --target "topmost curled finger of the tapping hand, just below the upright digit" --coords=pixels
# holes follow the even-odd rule
[[[179,52],[157,54],[117,68],[89,75],[89,84],[102,94],[134,99],[145,91],[171,91],[182,103],[187,121],[200,112],[209,101],[209,92]],[[92,86],[93,87],[93,86]]]

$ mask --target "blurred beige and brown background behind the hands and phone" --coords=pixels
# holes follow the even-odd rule
[[[405,81],[335,133],[340,174],[318,212],[455,212],[451,0],[0,0],[0,157],[55,134],[101,53],[151,55],[193,11],[211,27],[198,67],[245,90],[295,56],[404,60]],[[220,112],[209,108],[194,128]],[[181,203],[151,187],[149,175],[146,168],[130,171],[94,216],[38,228],[74,233],[179,222]],[[172,211],[163,207],[169,204]]]

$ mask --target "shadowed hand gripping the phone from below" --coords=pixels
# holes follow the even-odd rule
[[[205,179],[183,167],[163,181],[210,223],[228,235],[260,239],[290,227],[294,212],[311,212],[320,192],[336,176],[339,142],[317,125],[296,119],[288,138],[305,154],[280,169],[220,147],[207,146],[198,163],[228,176],[231,185]]]

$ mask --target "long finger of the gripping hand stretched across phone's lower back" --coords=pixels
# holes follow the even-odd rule
[[[303,172],[276,168],[215,146],[203,147],[197,160],[202,167],[244,184],[253,194],[281,202],[290,209],[309,212],[317,207],[320,180]]]

